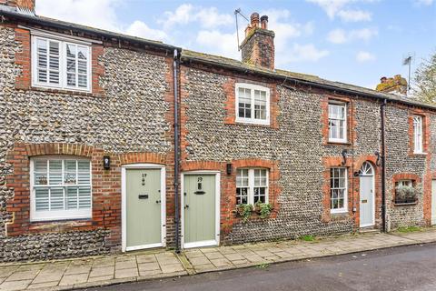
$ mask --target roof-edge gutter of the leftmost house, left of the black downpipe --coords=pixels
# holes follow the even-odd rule
[[[176,49],[177,52],[179,52],[179,53],[182,52],[181,47],[176,47],[173,45],[166,45],[166,44],[163,44],[160,42],[154,42],[151,40],[147,40],[144,38],[135,37],[135,36],[131,36],[131,35],[117,34],[117,33],[103,30],[103,29],[88,27],[85,25],[75,25],[75,24],[70,24],[70,23],[66,23],[66,22],[62,22],[62,21],[57,21],[54,19],[42,18],[42,17],[36,16],[36,15],[23,14],[23,13],[18,12],[17,10],[15,10],[12,7],[8,7],[5,5],[0,5],[0,15],[5,16],[5,17],[15,18],[15,19],[21,20],[21,21],[25,21],[25,22],[31,23],[33,25],[47,26],[47,27],[66,30],[66,31],[70,31],[70,32],[75,31],[75,32],[79,32],[79,33],[83,33],[83,34],[87,34],[87,35],[100,35],[100,36],[103,36],[107,39],[118,38],[118,39],[123,39],[123,40],[131,42],[131,43],[137,43],[137,44],[141,44],[141,45],[145,45],[145,46],[155,47],[155,48],[170,51],[170,52],[172,52],[174,49]]]

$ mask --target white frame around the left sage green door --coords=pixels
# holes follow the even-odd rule
[[[127,169],[155,169],[161,171],[161,242],[156,244],[148,244],[142,246],[130,246],[127,247],[127,211],[126,211],[126,170]],[[121,166],[121,236],[122,236],[122,251],[134,251],[143,248],[152,247],[164,247],[166,246],[166,181],[165,181],[166,171],[164,165],[159,164],[129,164]]]

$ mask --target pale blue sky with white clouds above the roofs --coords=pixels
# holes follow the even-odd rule
[[[292,72],[373,89],[436,53],[436,0],[36,0],[37,15],[240,60],[237,8],[269,16],[275,66]]]

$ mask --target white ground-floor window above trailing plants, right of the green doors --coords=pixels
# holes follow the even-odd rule
[[[236,204],[268,203],[268,170],[238,169],[236,172]]]

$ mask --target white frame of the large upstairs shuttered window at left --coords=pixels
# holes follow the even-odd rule
[[[69,39],[59,35],[50,35],[45,33],[34,33],[32,32],[32,86],[40,88],[52,88],[52,89],[62,89],[69,91],[79,91],[91,93],[92,91],[92,44],[79,41],[76,39]],[[59,43],[59,84],[50,84],[38,82],[38,72],[37,72],[37,45],[38,39],[45,40],[47,42],[54,41]],[[66,72],[66,45],[81,45],[86,46],[88,49],[87,55],[87,77],[86,77],[86,88],[79,87],[78,82],[75,86],[67,85],[67,72]],[[48,54],[48,52],[47,52]],[[48,62],[48,59],[47,59]],[[76,70],[78,75],[78,64],[76,62]],[[77,77],[76,77],[77,80]]]

